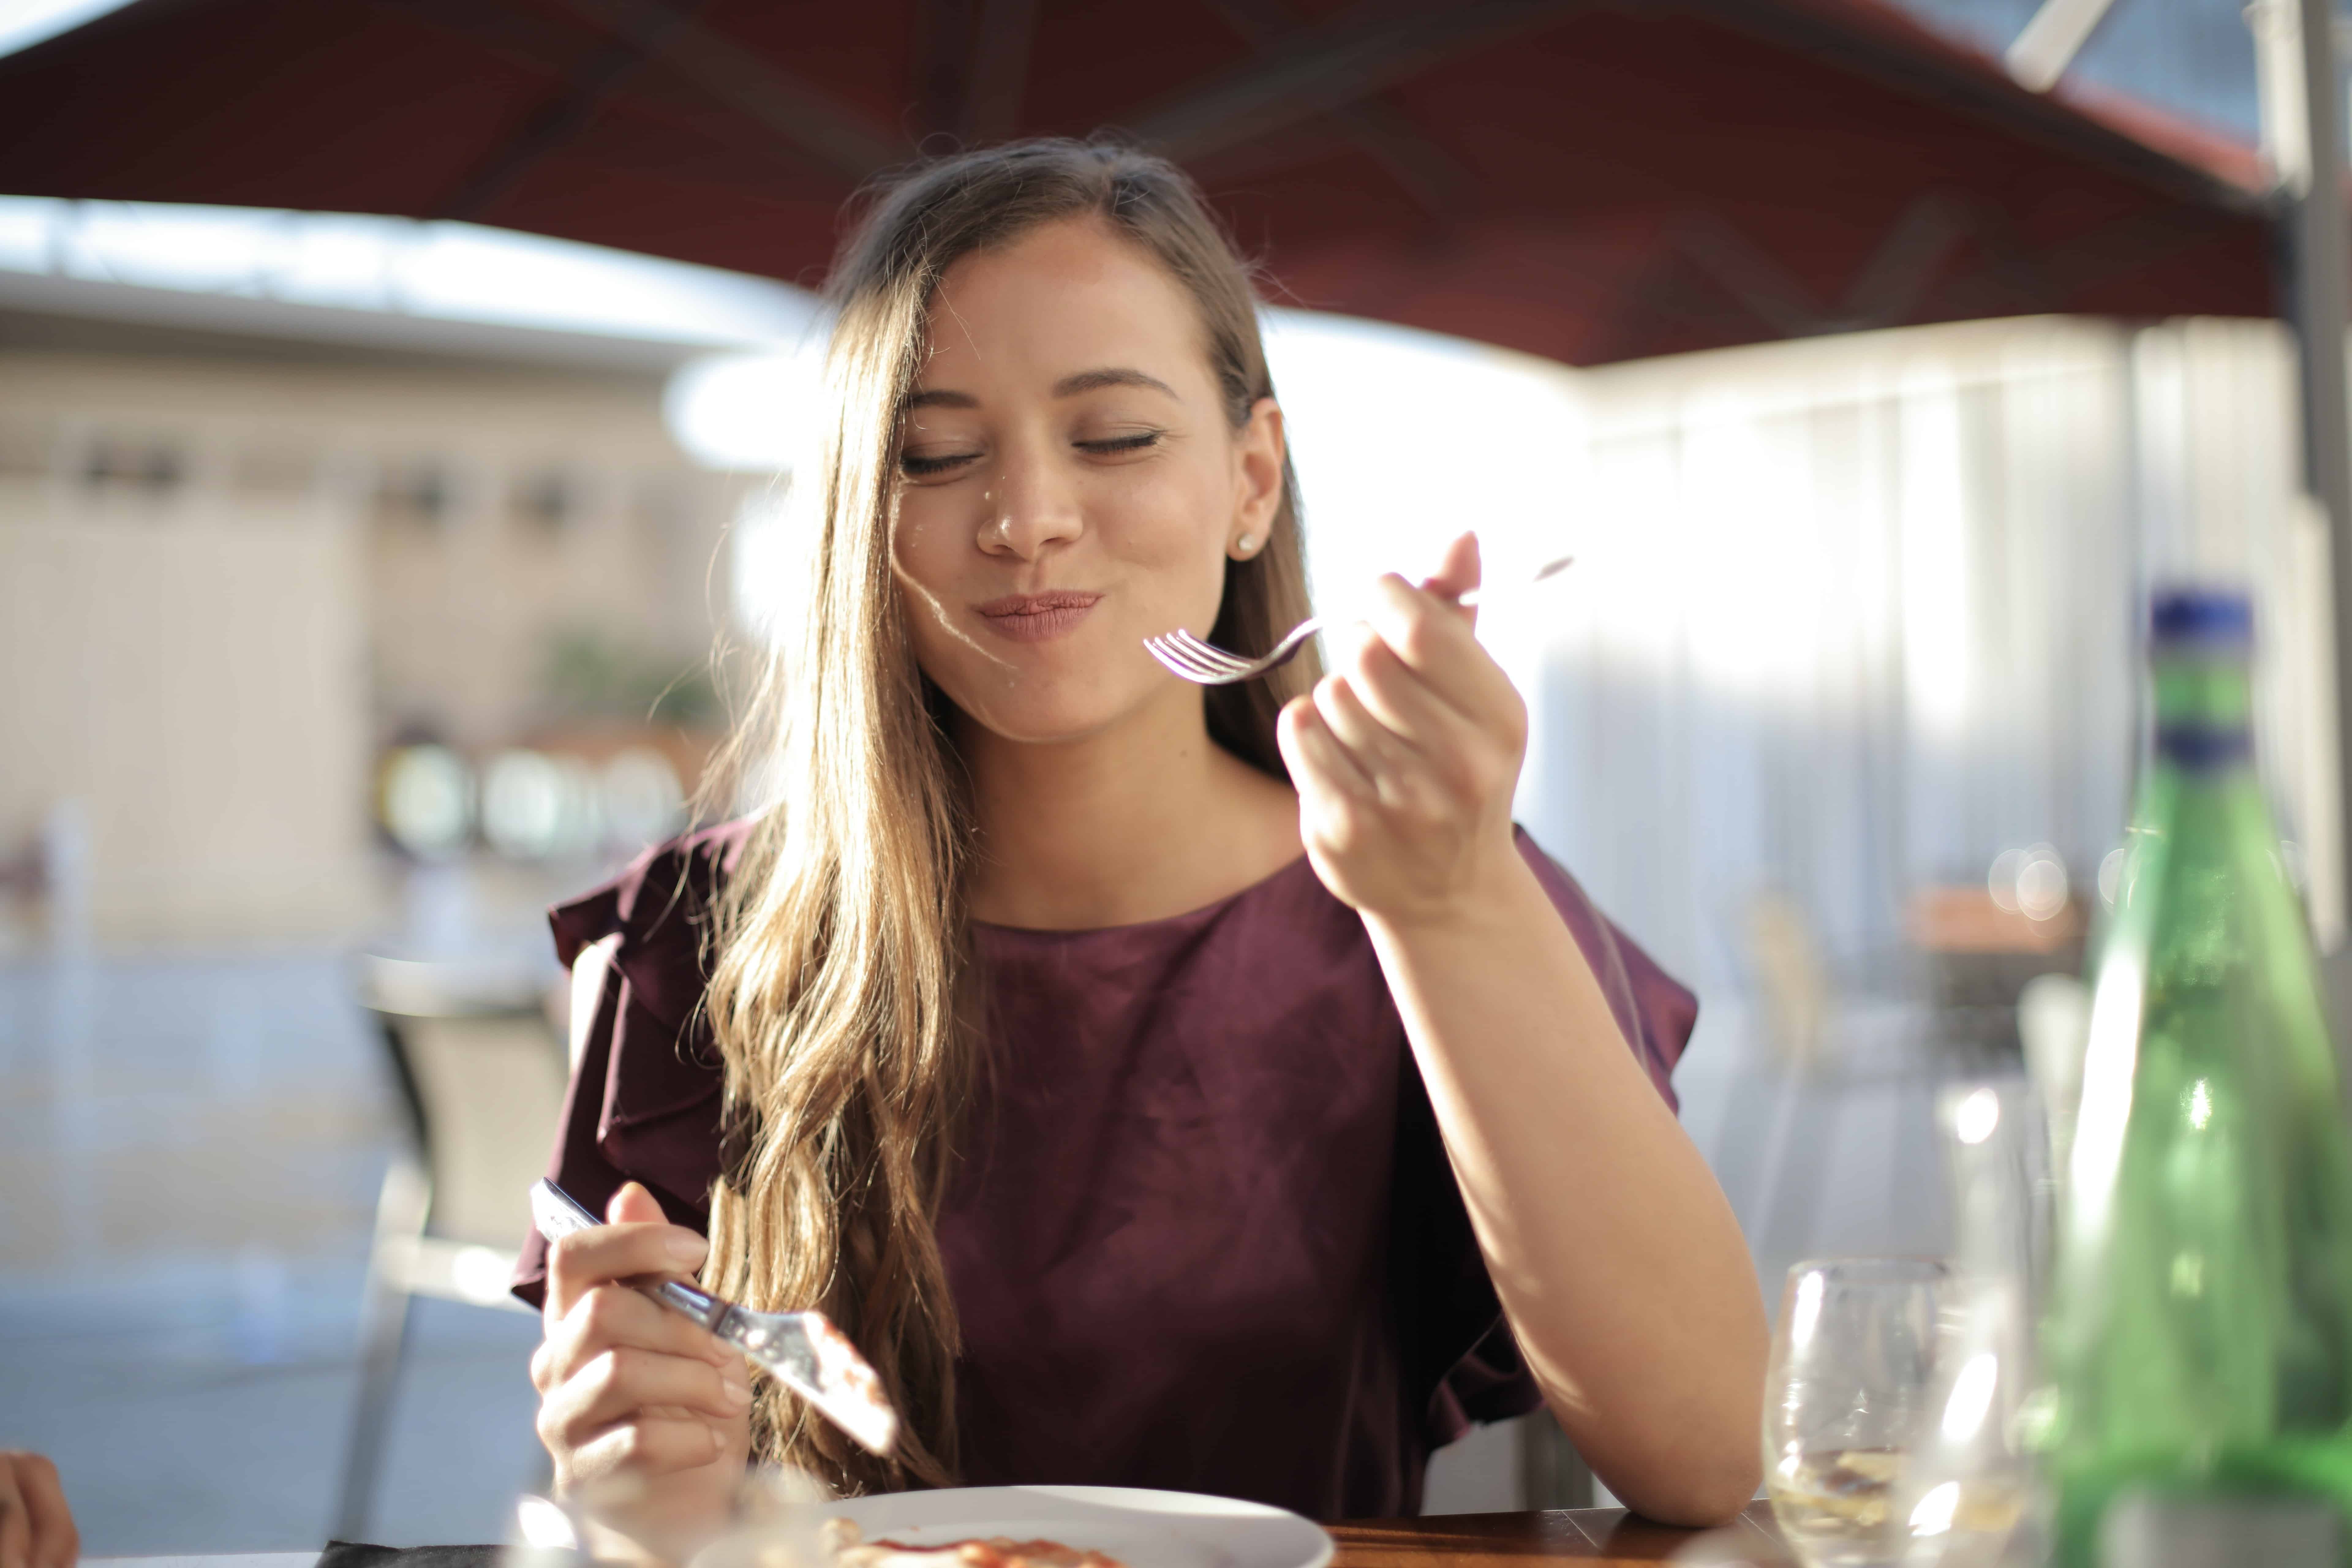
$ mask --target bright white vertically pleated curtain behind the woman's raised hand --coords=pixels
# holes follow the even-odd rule
[[[2253,590],[2265,771],[2314,912],[2340,910],[2324,541],[2274,324],[2037,317],[1569,371],[1279,317],[1270,350],[1327,607],[1463,527],[1491,576],[1576,552],[1482,628],[1534,715],[1519,818],[1719,1018],[1762,891],[1867,992],[1924,886],[2034,842],[2091,884],[2161,581]]]

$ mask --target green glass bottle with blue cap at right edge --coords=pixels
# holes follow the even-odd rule
[[[2157,597],[2044,1328],[2063,1568],[2352,1563],[2352,1140],[2251,644],[2241,595]]]

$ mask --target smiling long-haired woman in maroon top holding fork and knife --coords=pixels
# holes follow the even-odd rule
[[[748,1455],[1404,1514],[1541,1399],[1642,1512],[1736,1512],[1764,1314],[1665,1098],[1693,1006],[1512,827],[1475,541],[1324,679],[1143,654],[1308,614],[1249,280],[1160,160],[922,167],[833,301],[734,752],[779,804],[555,914],[555,1173],[614,1220],[517,1279],[560,1483],[628,1481],[642,1535]],[[903,1455],[614,1284],[666,1269],[833,1314]]]

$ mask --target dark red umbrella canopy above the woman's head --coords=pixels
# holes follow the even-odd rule
[[[1282,301],[1571,364],[2272,310],[2251,150],[1884,0],[139,0],[0,61],[0,190],[793,282],[917,150],[1096,129],[1192,169]]]

